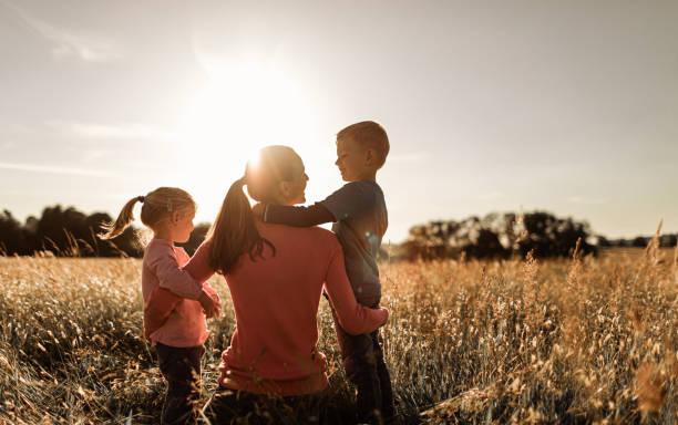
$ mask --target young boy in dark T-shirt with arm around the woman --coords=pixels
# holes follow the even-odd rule
[[[346,272],[356,299],[371,308],[377,308],[381,299],[377,253],[388,227],[377,170],[388,153],[389,138],[381,125],[372,121],[349,125],[337,134],[335,163],[348,184],[310,207],[255,208],[265,222],[297,227],[333,222],[332,231],[343,247]],[[393,391],[378,331],[349,335],[333,311],[332,317],[346,374],[358,392],[358,422],[380,423],[393,417]]]

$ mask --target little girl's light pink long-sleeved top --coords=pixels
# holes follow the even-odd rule
[[[187,261],[186,251],[167,240],[154,238],[146,247],[142,271],[144,328],[153,343],[195,346],[203,344],[209,334],[203,307],[195,300],[201,297],[203,287],[212,292],[214,290],[208,283],[201,284],[181,269]],[[150,304],[158,293],[162,296],[161,289],[172,291],[178,297],[170,296],[172,303],[160,321],[162,325],[150,330],[147,320]]]

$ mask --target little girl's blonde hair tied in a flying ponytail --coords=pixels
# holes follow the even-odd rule
[[[134,220],[134,205],[142,203],[141,220],[151,230],[156,231],[158,225],[172,218],[175,211],[195,212],[196,204],[193,197],[177,187],[158,187],[146,196],[137,196],[125,204],[114,222],[103,225],[105,234],[101,239],[113,239],[122,234]]]

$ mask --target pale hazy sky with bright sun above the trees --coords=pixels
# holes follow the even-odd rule
[[[177,186],[212,221],[270,144],[314,203],[342,185],[337,132],[373,120],[386,243],[521,207],[676,232],[676,22],[651,0],[0,0],[0,209]]]

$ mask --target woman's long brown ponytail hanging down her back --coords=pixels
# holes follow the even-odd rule
[[[245,185],[245,177],[230,185],[206,237],[210,242],[209,267],[220,274],[230,272],[245,252],[249,252],[253,260],[255,257],[263,258],[264,243],[271,248],[274,255],[276,252],[273,243],[257,230],[249,200],[243,191]]]

